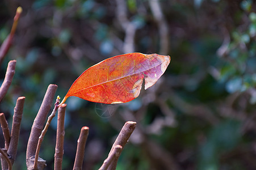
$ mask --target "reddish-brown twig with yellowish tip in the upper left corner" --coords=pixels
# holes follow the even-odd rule
[[[3,61],[3,58],[5,58],[8,50],[10,49],[13,37],[14,37],[14,33],[16,31],[17,25],[18,25],[18,20],[20,18],[20,14],[22,13],[22,7],[18,7],[16,10],[16,14],[14,16],[14,22],[12,24],[12,28],[11,28],[11,32],[9,34],[9,36],[7,36],[7,38],[5,39],[5,41],[3,41],[3,44],[0,47],[0,65]]]

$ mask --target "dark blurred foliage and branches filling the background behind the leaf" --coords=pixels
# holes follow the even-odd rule
[[[64,97],[88,67],[118,54],[171,56],[166,73],[127,103],[66,103],[63,169],[72,169],[82,126],[89,126],[84,169],[97,169],[125,121],[137,127],[117,169],[256,169],[256,4],[240,0],[5,0],[0,42],[22,6],[13,46],[0,69],[16,72],[0,104],[11,124],[26,96],[14,169],[26,169],[33,119],[49,84]],[[40,156],[53,169],[56,119]],[[1,147],[3,137],[1,135]]]

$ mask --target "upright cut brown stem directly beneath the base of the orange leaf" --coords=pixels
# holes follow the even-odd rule
[[[66,104],[60,105],[58,107],[58,121],[57,121],[57,136],[56,136],[56,146],[54,154],[54,170],[61,170],[62,159],[64,154],[64,119],[65,119]]]

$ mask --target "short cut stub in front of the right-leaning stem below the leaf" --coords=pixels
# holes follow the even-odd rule
[[[114,150],[112,152],[110,152],[110,154],[108,155],[107,159],[104,160],[102,166],[99,168],[99,170],[106,170],[109,166],[110,163],[113,162],[115,160],[115,158],[118,159],[118,157],[121,154],[123,147],[120,145],[116,145]]]

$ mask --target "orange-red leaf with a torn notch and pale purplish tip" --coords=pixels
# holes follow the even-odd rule
[[[105,59],[85,70],[70,87],[70,96],[114,104],[125,103],[140,94],[143,79],[145,90],[160,78],[170,63],[170,56],[129,53]]]

